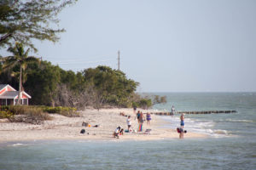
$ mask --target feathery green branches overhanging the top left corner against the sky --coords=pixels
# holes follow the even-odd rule
[[[56,42],[64,29],[50,28],[59,22],[56,18],[67,5],[77,0],[1,0],[0,1],[0,48],[14,42],[34,47],[32,39]]]

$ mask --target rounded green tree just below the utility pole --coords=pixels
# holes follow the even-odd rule
[[[85,81],[96,89],[96,101],[100,105],[131,105],[138,82],[127,79],[124,72],[98,66],[84,70],[83,75]]]

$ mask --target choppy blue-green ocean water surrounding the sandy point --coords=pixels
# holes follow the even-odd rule
[[[255,93],[170,93],[156,110],[236,110],[185,115],[185,129],[207,139],[31,141],[0,144],[0,169],[256,169]],[[177,116],[162,116],[176,128]]]

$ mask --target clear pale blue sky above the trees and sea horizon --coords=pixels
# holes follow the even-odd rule
[[[138,92],[256,92],[254,0],[79,0],[58,18],[59,42],[33,42],[65,70],[118,69],[120,51]]]

